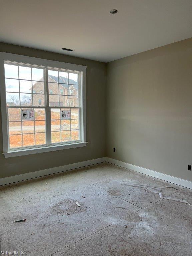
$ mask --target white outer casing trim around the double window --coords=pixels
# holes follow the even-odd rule
[[[34,148],[21,148],[9,150],[8,147],[8,114],[6,107],[6,88],[5,88],[5,72],[4,72],[4,61],[17,62],[18,64],[26,65],[35,65],[43,68],[52,68],[52,69],[65,69],[68,72],[79,72],[79,101],[80,101],[80,113],[79,119],[81,122],[80,127],[80,142],[72,142],[68,144],[58,143],[57,145],[51,146],[35,146]],[[5,157],[14,157],[21,155],[36,154],[41,152],[56,151],[68,148],[77,148],[86,146],[86,66],[64,63],[59,61],[52,61],[34,57],[28,57],[23,55],[17,55],[12,53],[0,52],[0,93],[1,93],[1,112],[2,112],[2,131],[3,131],[3,154]],[[49,94],[48,91],[48,77],[45,76],[46,83],[46,95]],[[33,106],[32,106],[33,107]],[[42,108],[43,106],[41,106]],[[35,107],[36,108],[36,107]],[[47,111],[48,112],[48,111]],[[46,120],[50,122],[50,114],[46,115]],[[47,128],[47,127],[46,127]],[[47,130],[46,133],[50,133],[50,130]],[[49,134],[50,137],[50,134]]]

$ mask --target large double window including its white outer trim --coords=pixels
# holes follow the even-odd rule
[[[0,59],[5,157],[85,146],[86,67],[7,53]]]

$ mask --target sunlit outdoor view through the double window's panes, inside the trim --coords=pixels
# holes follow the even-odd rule
[[[80,72],[4,63],[9,149],[79,142]]]

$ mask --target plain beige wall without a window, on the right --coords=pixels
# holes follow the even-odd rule
[[[192,181],[192,38],[108,63],[106,95],[107,156]]]

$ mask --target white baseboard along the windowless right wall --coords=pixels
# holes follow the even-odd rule
[[[192,182],[106,157],[106,162],[192,189]]]

